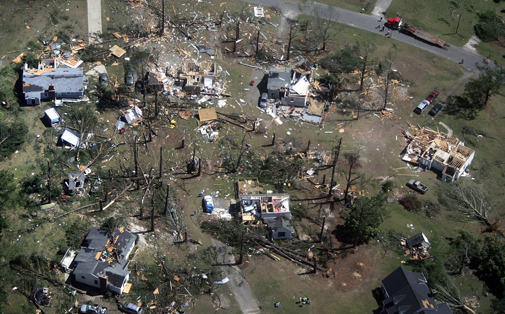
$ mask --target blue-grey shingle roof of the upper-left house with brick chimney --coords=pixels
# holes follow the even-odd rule
[[[85,76],[83,69],[51,69],[38,74],[23,71],[23,93],[24,98],[42,98],[44,92],[52,84],[55,92],[58,93],[82,93],[84,91]]]

